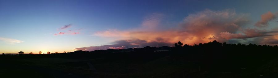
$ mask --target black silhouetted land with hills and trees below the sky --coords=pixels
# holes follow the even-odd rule
[[[0,56],[1,78],[277,78],[277,46],[195,46]],[[157,52],[157,50],[164,50]],[[169,50],[169,51],[165,51]]]

